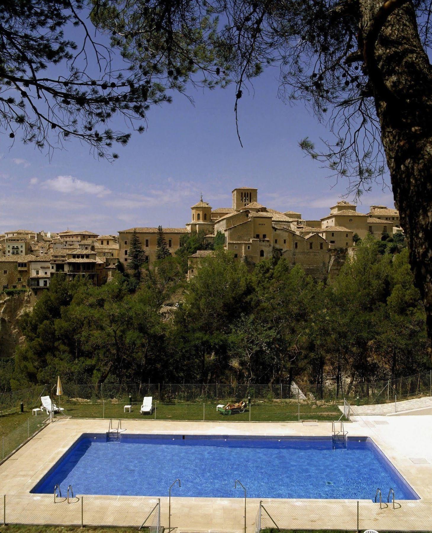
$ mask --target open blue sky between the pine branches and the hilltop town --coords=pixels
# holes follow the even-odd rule
[[[258,201],[267,207],[299,211],[306,219],[328,214],[346,183],[326,179],[327,169],[304,157],[298,141],[327,133],[302,104],[278,100],[277,75],[267,70],[253,92],[243,92],[243,148],[235,131],[233,85],[205,92],[191,88],[194,106],[176,94],[172,104],[152,108],[147,131],[116,148],[115,163],[94,159],[78,141],[50,160],[18,138],[9,149],[3,135],[0,232],[183,227],[201,191],[213,208],[227,207],[232,189],[243,186],[257,187]],[[113,125],[124,127],[121,119]],[[392,192],[375,185],[357,210],[367,212],[376,203],[393,207]]]

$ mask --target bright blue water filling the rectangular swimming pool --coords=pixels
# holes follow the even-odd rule
[[[83,435],[32,492],[250,498],[372,499],[379,487],[396,499],[419,499],[368,439],[248,438],[186,435],[121,435],[107,441]]]

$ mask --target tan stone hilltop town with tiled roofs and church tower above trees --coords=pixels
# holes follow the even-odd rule
[[[136,232],[150,264],[156,259],[158,228],[134,227],[117,235],[92,231],[44,232],[6,231],[0,236],[0,284],[3,290],[30,288],[37,295],[50,286],[53,274],[68,279],[88,276],[102,285],[117,269],[128,268],[128,251]],[[338,251],[349,251],[357,238],[402,233],[398,211],[384,205],[370,206],[369,213],[357,212],[356,205],[341,200],[320,220],[304,220],[295,211],[277,211],[258,203],[258,190],[240,187],[232,191],[232,206],[213,209],[201,199],[191,207],[191,220],[183,228],[163,228],[169,251],[174,254],[184,235],[203,232],[206,243],[222,235],[224,248],[234,257],[258,263],[274,254],[301,264],[319,275],[329,270]],[[194,275],[202,257],[211,250],[199,250],[189,257],[188,278]]]

